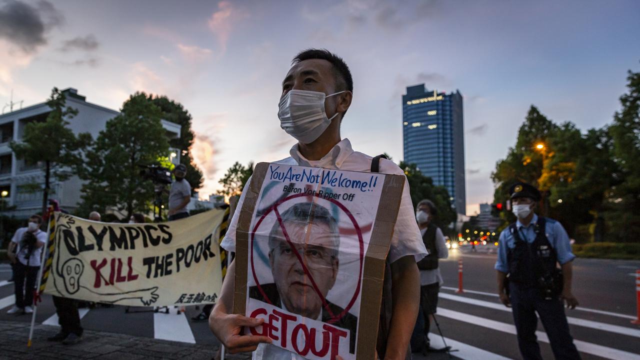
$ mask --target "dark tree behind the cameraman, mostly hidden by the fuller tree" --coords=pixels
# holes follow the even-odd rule
[[[169,140],[169,145],[180,152],[180,163],[187,167],[185,178],[191,184],[191,192],[196,192],[202,187],[204,177],[202,177],[202,171],[193,164],[191,158],[191,145],[193,145],[191,114],[182,104],[168,99],[166,96],[149,95],[148,100],[160,108],[164,120],[180,125],[180,137]]]

